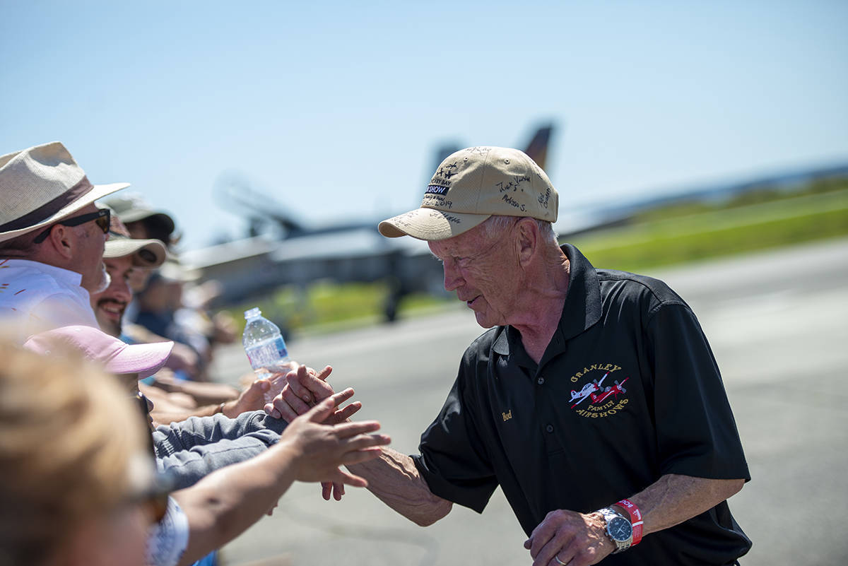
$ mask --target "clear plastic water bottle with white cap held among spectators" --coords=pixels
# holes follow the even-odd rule
[[[256,377],[271,380],[271,390],[265,393],[265,402],[271,402],[285,385],[282,376],[275,380],[271,374],[285,375],[291,369],[286,341],[282,339],[279,326],[262,316],[259,308],[244,311],[244,318],[248,321],[242,336],[244,353]]]

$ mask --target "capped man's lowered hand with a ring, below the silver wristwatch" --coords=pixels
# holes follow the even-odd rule
[[[556,558],[568,566],[589,566],[616,549],[605,531],[600,513],[557,509],[533,529],[524,547],[530,551],[533,566],[557,566]]]

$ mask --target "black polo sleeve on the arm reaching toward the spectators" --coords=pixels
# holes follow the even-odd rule
[[[412,458],[434,495],[483,513],[498,480],[463,389],[460,369],[441,412],[421,435],[421,455]]]

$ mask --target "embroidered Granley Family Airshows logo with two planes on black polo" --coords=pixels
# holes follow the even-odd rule
[[[615,363],[593,363],[572,375],[572,383],[583,383],[579,390],[572,389],[572,410],[587,419],[603,419],[621,411],[628,404],[624,384],[630,378],[614,379],[612,374],[619,369]]]

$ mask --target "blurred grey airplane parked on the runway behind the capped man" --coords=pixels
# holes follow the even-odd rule
[[[524,150],[542,169],[554,130],[553,124],[542,125]],[[432,170],[459,149],[439,148]],[[422,191],[426,184],[422,183]],[[427,242],[381,236],[377,224],[383,218],[315,227],[304,225],[273,198],[236,177],[226,179],[219,192],[226,208],[240,208],[248,217],[248,237],[184,252],[180,258],[188,269],[199,272],[201,280],[220,283],[217,306],[267,297],[281,286],[305,288],[315,280],[387,280],[390,291],[383,314],[393,320],[407,294],[445,292],[442,265],[432,257]]]

